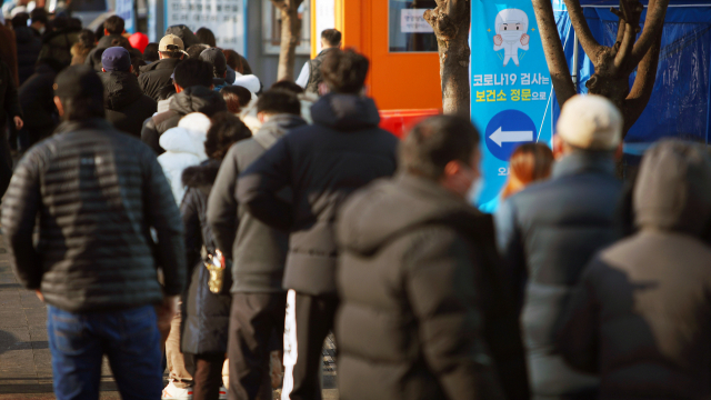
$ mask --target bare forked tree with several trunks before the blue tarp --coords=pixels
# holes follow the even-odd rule
[[[654,88],[669,0],[649,1],[644,30],[639,39],[637,34],[641,30],[640,17],[644,8],[638,0],[620,0],[619,9],[612,9],[619,18],[619,24],[617,41],[611,48],[601,46],[592,37],[580,1],[564,1],[580,44],[594,66],[594,73],[585,83],[588,92],[610,99],[620,109],[624,117],[623,136],[627,136],[642,114]],[[575,93],[575,88],[570,80],[570,69],[558,37],[553,10],[550,0],[532,0],[532,2],[555,96],[562,107],[562,103]],[[630,90],[630,74],[635,69],[637,78]]]

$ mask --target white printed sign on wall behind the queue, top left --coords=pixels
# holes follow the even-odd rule
[[[186,24],[193,32],[208,28],[217,46],[244,53],[244,2],[242,0],[167,0],[168,27]]]

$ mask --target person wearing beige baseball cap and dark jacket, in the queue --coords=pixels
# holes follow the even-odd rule
[[[180,38],[174,34],[166,34],[158,43],[160,60],[141,67],[141,76],[138,81],[144,94],[153,100],[159,100],[161,89],[171,87],[176,66],[186,56],[186,47]]]

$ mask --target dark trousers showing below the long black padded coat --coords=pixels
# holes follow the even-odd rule
[[[186,370],[192,376],[192,400],[218,400],[222,387],[224,353],[183,353]]]

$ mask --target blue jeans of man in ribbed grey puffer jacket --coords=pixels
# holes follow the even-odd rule
[[[103,354],[123,400],[160,399],[162,356],[152,306],[103,312],[52,306],[47,310],[57,400],[98,400]]]

